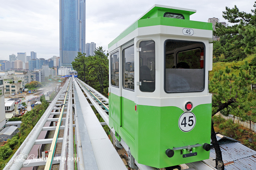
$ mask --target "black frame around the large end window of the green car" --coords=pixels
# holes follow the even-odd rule
[[[198,44],[202,44],[204,47],[204,79],[203,79],[203,89],[202,90],[186,90],[186,91],[175,91],[175,92],[168,92],[168,91],[166,91],[166,86],[165,86],[165,83],[166,83],[166,78],[165,78],[165,74],[166,74],[166,67],[165,67],[165,56],[166,56],[166,54],[165,54],[165,52],[166,52],[166,43],[167,42],[169,42],[169,41],[172,41],[172,42],[186,42],[186,43],[198,43]],[[205,69],[205,66],[206,66],[206,63],[205,63],[205,54],[206,54],[206,50],[205,50],[205,44],[203,43],[203,42],[200,42],[200,41],[186,41],[186,40],[173,40],[173,39],[167,39],[167,40],[165,40],[164,41],[164,44],[163,44],[163,53],[164,53],[164,57],[163,57],[163,79],[164,79],[164,81],[163,81],[163,89],[164,89],[164,91],[165,91],[165,93],[192,93],[192,92],[202,92],[202,91],[204,91],[205,90],[205,86],[206,86],[206,83],[205,83],[205,76],[206,76],[206,69]],[[198,49],[198,48],[191,48],[191,49],[189,49],[189,50],[193,50],[193,49]],[[176,51],[174,54],[176,54],[176,55],[174,55],[174,57],[175,57],[175,61],[177,62],[177,56],[178,56],[178,53],[179,52],[182,52],[182,51],[188,51],[188,50],[180,50],[180,51]],[[175,63],[176,64],[176,63]]]

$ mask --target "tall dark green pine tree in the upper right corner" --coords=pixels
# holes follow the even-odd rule
[[[253,7],[256,7],[256,2]],[[255,53],[256,45],[256,12],[241,12],[235,5],[230,9],[226,7],[223,17],[232,26],[224,26],[221,23],[216,24],[214,35],[220,36],[221,45],[225,49],[224,56],[226,61],[238,61],[244,59],[249,53]]]

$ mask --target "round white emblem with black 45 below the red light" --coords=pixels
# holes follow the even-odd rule
[[[183,132],[191,131],[196,124],[196,116],[192,112],[184,112],[179,117],[179,128]]]

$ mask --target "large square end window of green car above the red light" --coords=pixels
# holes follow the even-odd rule
[[[164,90],[167,93],[204,90],[203,50],[204,44],[201,42],[176,40],[165,42]]]

